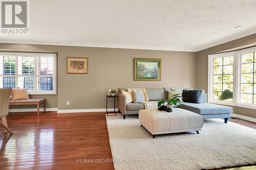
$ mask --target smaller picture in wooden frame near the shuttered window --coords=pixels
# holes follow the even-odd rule
[[[88,58],[67,57],[67,73],[88,74]]]

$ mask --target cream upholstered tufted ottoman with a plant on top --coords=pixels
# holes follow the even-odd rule
[[[174,108],[173,112],[145,109],[139,111],[141,126],[146,128],[155,138],[155,135],[199,131],[203,126],[203,116],[200,114]]]

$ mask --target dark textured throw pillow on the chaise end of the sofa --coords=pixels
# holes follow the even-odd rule
[[[200,90],[183,90],[182,100],[187,103],[200,103]]]

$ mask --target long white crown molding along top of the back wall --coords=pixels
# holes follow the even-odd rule
[[[38,42],[38,41],[14,41],[14,40],[8,40],[8,41],[0,40],[0,43],[64,45],[64,46],[84,46],[84,47],[102,47],[102,48],[123,48],[123,49],[135,49],[135,50],[197,52],[195,48],[189,48],[189,47],[153,46],[153,45],[129,45],[129,44],[108,44],[108,43],[65,43],[65,42]]]

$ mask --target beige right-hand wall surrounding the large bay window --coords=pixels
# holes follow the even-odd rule
[[[197,52],[197,88],[201,88],[207,91],[208,84],[208,55],[218,53],[221,51],[229,50],[231,48],[251,44],[256,42],[256,34],[252,34],[237,40],[226,42],[214,47],[207,48],[205,50]],[[233,107],[233,113],[241,114],[256,118],[255,110]]]

